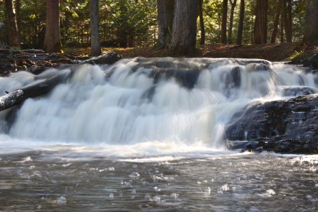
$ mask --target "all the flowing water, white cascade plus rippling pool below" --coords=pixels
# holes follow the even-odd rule
[[[249,104],[318,93],[318,75],[261,60],[125,59],[60,73],[0,113],[2,211],[317,211],[318,156],[241,153],[224,141]]]

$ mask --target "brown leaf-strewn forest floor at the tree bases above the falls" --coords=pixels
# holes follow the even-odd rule
[[[308,53],[308,46],[301,43],[283,43],[283,44],[267,44],[267,45],[223,45],[209,44],[197,47],[198,51],[191,57],[207,57],[207,58],[255,58],[268,61],[289,61],[297,58],[305,58],[309,54],[318,53],[318,45],[312,45]],[[65,53],[76,53],[87,56],[89,54],[87,48],[66,48]],[[136,48],[102,48],[102,53],[116,52],[123,55],[123,58],[134,57],[166,57],[168,51],[166,49],[155,49],[153,47],[136,47]],[[305,53],[306,52],[306,53]]]

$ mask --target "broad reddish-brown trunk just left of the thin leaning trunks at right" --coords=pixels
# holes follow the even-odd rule
[[[254,44],[267,43],[267,8],[268,0],[257,0],[254,25]]]

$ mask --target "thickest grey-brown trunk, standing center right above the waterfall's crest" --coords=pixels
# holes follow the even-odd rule
[[[170,54],[189,55],[196,52],[198,0],[176,0]]]

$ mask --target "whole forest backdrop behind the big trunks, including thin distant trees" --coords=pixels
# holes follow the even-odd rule
[[[2,47],[9,44],[9,19],[5,1],[0,0]],[[242,0],[199,0],[196,43],[200,45],[236,44]],[[241,44],[301,43],[304,38],[308,0],[266,0],[266,41],[255,40],[258,5],[262,0],[244,0]],[[20,47],[42,49],[46,29],[45,0],[13,0]],[[99,36],[102,47],[158,47],[157,0],[99,0]],[[159,1],[158,1],[159,2]],[[91,45],[89,0],[60,0],[62,49]],[[200,5],[201,3],[201,5]],[[285,17],[286,16],[286,17]],[[284,18],[286,18],[284,20]],[[200,19],[203,20],[200,22]],[[285,23],[285,26],[284,26]],[[289,27],[286,28],[286,23]],[[275,27],[277,26],[277,28]],[[276,29],[275,29],[276,28]],[[273,38],[273,31],[276,36]],[[172,31],[168,32],[172,34]],[[240,44],[240,43],[239,43]],[[214,46],[217,48],[219,46]],[[296,47],[292,45],[292,47]],[[156,49],[155,48],[155,49]]]

